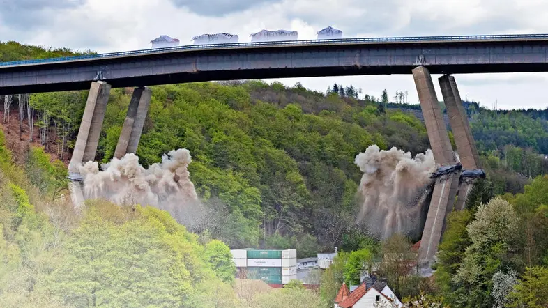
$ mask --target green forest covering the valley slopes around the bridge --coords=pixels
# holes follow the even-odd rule
[[[0,43],[0,61],[70,53]],[[146,279],[159,279],[158,284],[143,284],[146,292],[162,296],[157,299],[163,303],[160,307],[171,307],[177,300],[179,305],[197,298],[215,300],[211,293],[200,293],[208,289],[201,284],[216,286],[215,294],[227,294],[223,298],[234,302],[220,307],[231,307],[241,305],[242,297],[235,291],[234,276],[229,275],[233,269],[227,267],[227,249],[296,248],[302,258],[337,247],[340,254],[321,275],[318,294],[297,284],[284,289],[283,297],[260,296],[286,300],[299,293],[317,304],[310,307],[333,307],[329,301],[343,281],[359,282],[356,273],[369,263],[381,262],[381,273],[401,298],[423,292],[449,307],[547,305],[541,291],[548,286],[548,177],[543,176],[548,173],[548,110],[493,111],[478,102],[464,102],[487,178],[475,185],[466,210],[450,214],[436,274],[423,279],[384,258],[395,252],[413,258],[413,242],[399,235],[381,242],[356,220],[361,203],[356,192],[362,176],[354,163],[358,153],[372,144],[413,155],[429,148],[420,107],[406,102],[406,95],[390,98],[383,91],[376,98],[337,84],[320,93],[298,83],[284,86],[254,80],[153,86],[151,90],[151,107],[137,150],[139,162],[146,167],[173,149],[190,150],[190,178],[211,217],[181,226],[154,208],[117,208],[99,201],[89,204],[82,220],[66,216],[59,208],[66,204],[65,166],[87,91],[23,95],[10,98],[10,105],[5,99],[2,110],[17,110],[19,100],[28,101],[24,110],[34,116],[25,125],[15,123],[17,118],[4,119],[3,143],[8,146],[0,148],[0,186],[5,197],[0,216],[6,220],[0,222],[0,246],[6,249],[0,251],[6,253],[0,254],[0,261],[7,270],[0,270],[0,303],[4,300],[10,307],[17,302],[15,293],[5,290],[22,286],[31,290],[23,295],[29,307],[36,304],[33,300],[43,300],[44,294],[54,294],[52,300],[58,302],[42,307],[57,307],[59,302],[81,307],[90,300],[96,305],[99,298],[142,302],[144,298],[134,297],[135,293],[118,297],[113,295],[116,288],[107,287],[140,285],[123,276],[123,266],[135,263],[143,272],[155,273]],[[109,162],[114,154],[131,91],[111,91],[96,157],[100,162]],[[36,129],[31,136],[29,128]],[[32,146],[12,151],[10,160],[9,147],[15,139],[32,141]],[[128,233],[132,236],[123,236]],[[135,235],[144,233],[149,238],[146,243]],[[129,259],[128,254],[149,249],[146,245],[158,245],[158,249],[156,255],[146,256],[149,259],[119,264],[114,253],[97,251],[93,245],[111,247]],[[124,250],[130,246],[136,250]],[[100,256],[95,269],[84,264],[96,259],[90,251]],[[52,261],[51,256],[60,258]],[[146,260],[153,259],[165,266],[151,268]],[[81,270],[73,274],[67,268]],[[116,272],[119,280],[86,274],[97,268],[102,273]],[[169,270],[169,280],[155,278],[165,277],[161,270],[167,268],[174,269]],[[19,280],[8,283],[13,277]],[[55,282],[55,277],[63,277],[66,285]],[[169,286],[160,294],[149,284]],[[68,293],[76,294],[75,298],[61,296]]]

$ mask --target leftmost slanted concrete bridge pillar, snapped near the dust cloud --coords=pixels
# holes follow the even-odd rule
[[[84,194],[82,192],[78,167],[83,162],[95,160],[110,88],[111,86],[106,82],[98,81],[91,83],[73,156],[70,158],[70,163],[68,164],[70,196],[76,210],[79,210],[84,203]]]

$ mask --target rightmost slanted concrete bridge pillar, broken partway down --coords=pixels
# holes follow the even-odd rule
[[[473,170],[480,168],[480,159],[478,150],[475,148],[475,141],[468,123],[466,110],[462,105],[462,100],[459,95],[459,89],[455,82],[455,77],[444,75],[439,78],[439,85],[443,101],[446,103],[447,114],[453,135],[455,136],[455,144],[459,153],[460,162],[463,169]],[[472,188],[471,180],[464,180],[460,187],[457,197],[456,210],[464,209],[466,197]]]

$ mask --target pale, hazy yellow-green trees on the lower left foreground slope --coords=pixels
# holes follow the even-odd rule
[[[227,245],[165,211],[95,200],[77,216],[50,198],[66,169],[23,154],[14,164],[0,131],[0,307],[330,307],[302,286],[236,281]]]

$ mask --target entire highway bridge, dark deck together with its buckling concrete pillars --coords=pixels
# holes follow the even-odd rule
[[[473,177],[465,175],[481,168],[451,74],[547,71],[547,34],[227,43],[0,63],[0,95],[90,89],[69,164],[71,194],[78,209],[84,201],[78,166],[95,158],[112,87],[136,87],[114,153],[120,158],[137,151],[151,99],[151,91],[145,86],[231,79],[412,74],[434,160],[440,167],[419,249],[420,263],[428,268],[445,229],[446,216],[464,208],[473,185]],[[452,151],[430,73],[444,74],[439,84],[459,161]]]

